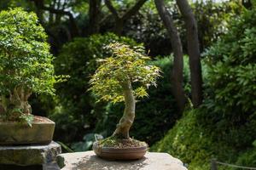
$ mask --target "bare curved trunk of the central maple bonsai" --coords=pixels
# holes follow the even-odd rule
[[[112,136],[120,139],[130,139],[129,131],[135,117],[135,97],[130,81],[123,83],[122,87],[125,96],[125,111]]]

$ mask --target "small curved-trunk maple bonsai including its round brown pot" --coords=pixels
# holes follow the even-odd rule
[[[139,159],[148,149],[145,142],[131,139],[129,131],[135,118],[137,99],[148,96],[146,89],[156,86],[160,69],[147,65],[150,59],[142,47],[130,48],[122,43],[108,45],[113,55],[99,59],[100,66],[90,79],[90,90],[99,100],[125,102],[125,111],[112,136],[96,141],[96,155],[107,159]],[[133,89],[132,85],[136,84]]]

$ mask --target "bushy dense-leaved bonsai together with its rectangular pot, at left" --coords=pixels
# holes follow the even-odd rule
[[[55,123],[32,116],[32,93],[54,94],[52,54],[36,14],[22,8],[0,13],[0,144],[49,143]]]

